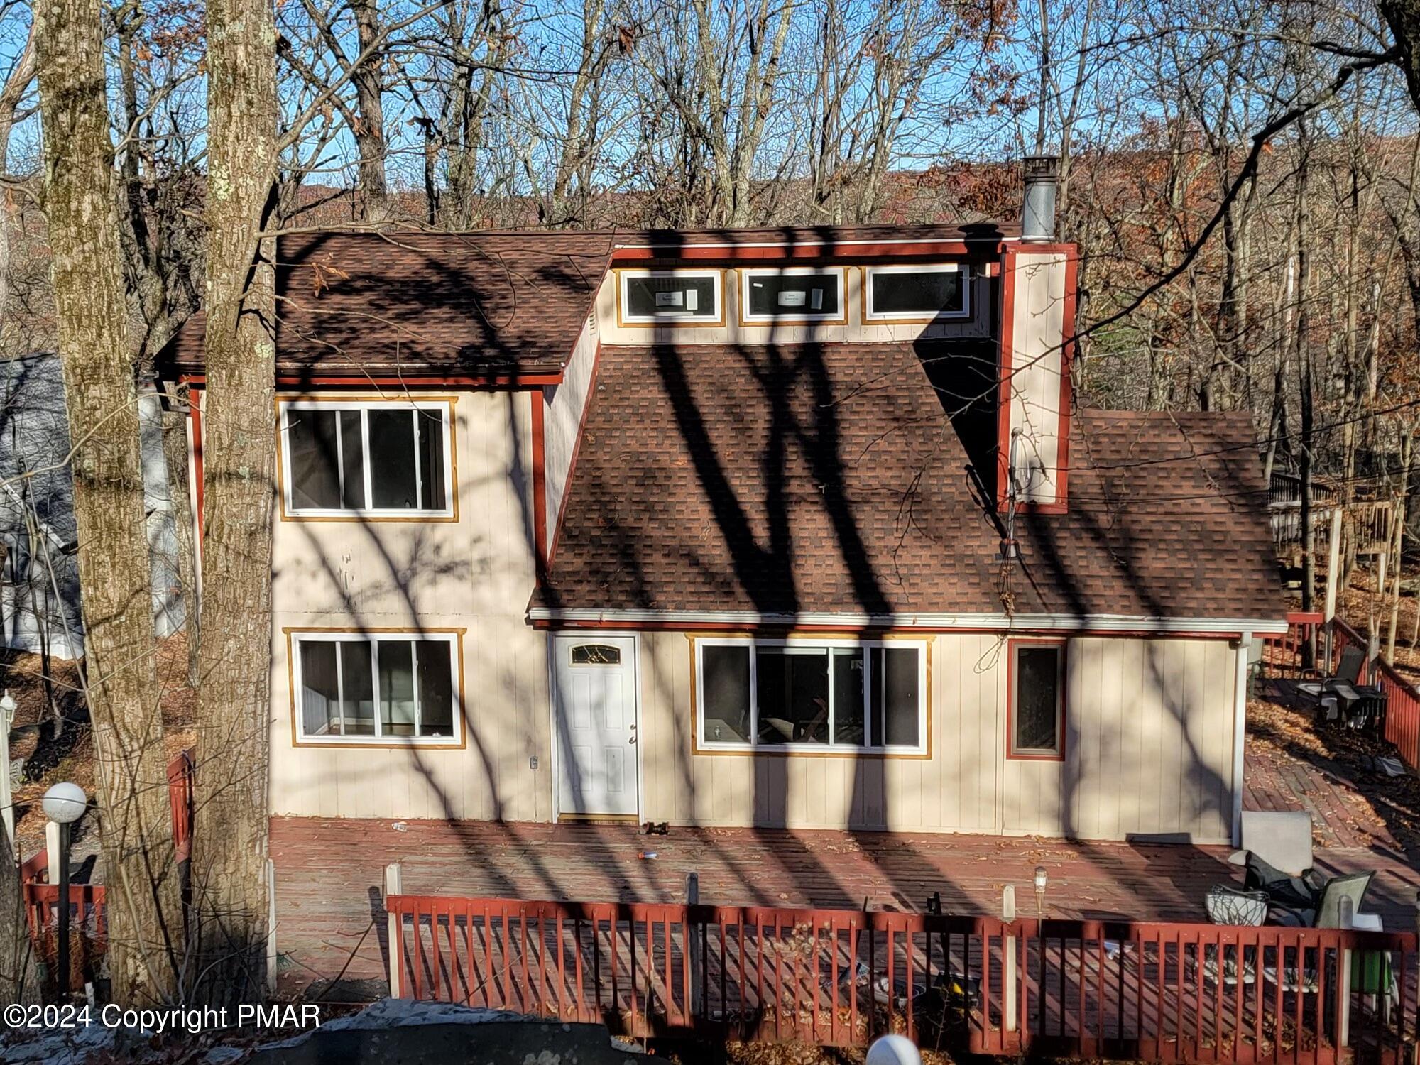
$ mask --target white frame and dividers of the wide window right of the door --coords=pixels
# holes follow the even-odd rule
[[[748,648],[750,649],[750,743],[724,743],[723,740],[706,738],[706,693],[704,693],[704,649],[706,648]],[[865,743],[758,743],[760,736],[760,693],[758,693],[758,660],[757,648],[802,648],[802,649],[832,649],[849,648],[863,652],[863,738]],[[892,648],[903,650],[912,648],[917,652],[917,743],[880,744],[873,743],[872,700],[869,694],[873,683],[873,660],[869,650],[873,648]],[[927,655],[932,648],[927,640],[855,640],[855,639],[794,639],[768,640],[750,636],[738,638],[704,638],[696,640],[696,747],[700,753],[716,751],[774,751],[774,753],[838,753],[838,754],[926,754],[927,753]],[[828,686],[828,734],[834,734],[834,686]]]

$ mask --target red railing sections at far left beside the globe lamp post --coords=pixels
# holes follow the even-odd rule
[[[168,799],[173,818],[173,845],[179,862],[187,861],[192,851],[192,751],[180,751],[168,763]],[[20,866],[20,883],[24,893],[26,914],[30,934],[34,937],[40,956],[55,956],[55,927],[58,926],[60,886],[45,883],[50,853],[41,849]],[[108,920],[104,912],[104,885],[70,885],[70,934],[78,943],[71,957],[78,970],[88,971],[102,956],[108,943]],[[71,981],[71,987],[74,983]]]

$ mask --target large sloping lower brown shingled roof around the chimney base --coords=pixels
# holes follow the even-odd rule
[[[547,585],[561,609],[998,613],[1000,531],[930,344],[606,346]],[[1245,415],[1081,410],[1018,613],[1281,618]]]

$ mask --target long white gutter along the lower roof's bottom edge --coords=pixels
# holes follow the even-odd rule
[[[635,625],[662,622],[710,625],[839,625],[892,629],[988,629],[1000,632],[1287,632],[1285,619],[1264,618],[1139,618],[1123,613],[758,613],[755,611],[595,611],[528,608],[531,621]]]

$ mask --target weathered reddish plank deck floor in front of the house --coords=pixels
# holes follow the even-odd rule
[[[1207,889],[1240,879],[1217,846],[780,829],[643,836],[629,825],[274,818],[271,853],[281,984],[339,980],[337,1000],[375,994],[385,978],[379,889],[396,861],[403,890],[417,895],[680,903],[694,872],[707,905],[920,912],[940,892],[947,913],[985,916],[1000,913],[1007,883],[1021,914],[1035,916],[1031,878],[1045,866],[1047,916],[1088,920],[1204,920]],[[1380,868],[1369,909],[1387,927],[1413,927],[1420,876],[1397,856],[1329,848],[1318,868]]]

